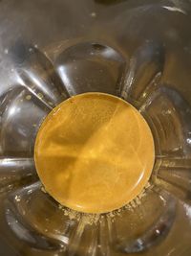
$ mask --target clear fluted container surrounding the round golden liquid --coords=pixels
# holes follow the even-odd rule
[[[191,255],[190,1],[0,2],[0,252]],[[115,219],[70,219],[41,188],[33,145],[55,105],[106,92],[152,129],[144,196]]]

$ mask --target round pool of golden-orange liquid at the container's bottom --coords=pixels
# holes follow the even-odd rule
[[[138,110],[103,93],[57,105],[34,149],[46,191],[86,213],[109,212],[136,198],[151,175],[154,155],[151,130]]]

